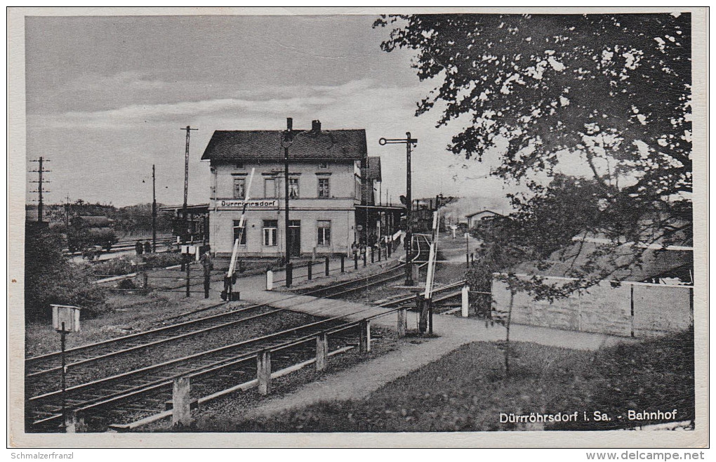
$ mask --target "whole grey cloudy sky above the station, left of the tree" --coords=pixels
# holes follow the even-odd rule
[[[420,82],[414,52],[383,52],[390,29],[374,16],[64,16],[26,18],[26,137],[29,160],[49,158],[47,203],[82,199],[127,206],[183,201],[185,131],[191,133],[189,203],[207,203],[214,130],[364,128],[382,159],[382,192],[405,193],[405,148],[418,139],[413,196],[503,197],[486,161],[449,153],[457,120],[436,128],[437,110],[415,117],[440,82]],[[27,180],[29,193],[36,174]],[[145,181],[145,183],[142,183]]]

